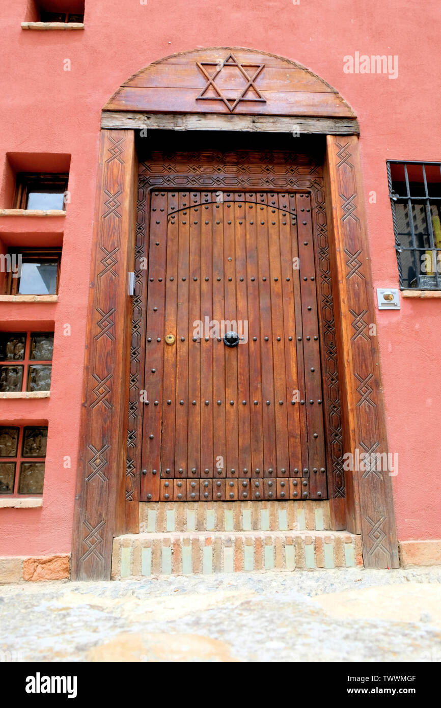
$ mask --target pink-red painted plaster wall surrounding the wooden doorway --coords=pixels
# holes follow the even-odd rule
[[[21,319],[55,323],[50,399],[0,401],[0,421],[49,421],[43,507],[0,510],[0,555],[70,549],[100,113],[122,81],[173,52],[225,45],[297,60],[333,85],[359,117],[365,193],[377,193],[377,203],[367,203],[375,287],[398,287],[386,159],[441,160],[438,0],[428,0],[423,13],[413,0],[86,0],[86,29],[68,32],[21,30],[27,6],[2,2],[0,176],[6,152],[70,154],[71,203],[65,218],[0,219],[8,243],[32,242],[43,231],[48,244],[61,234],[63,242],[57,304],[0,303],[2,329]],[[398,55],[399,77],[345,74],[343,57],[355,51]],[[402,540],[441,538],[440,308],[440,300],[402,299],[400,312],[378,314]],[[71,336],[63,335],[64,324]],[[66,455],[71,469],[63,467]]]

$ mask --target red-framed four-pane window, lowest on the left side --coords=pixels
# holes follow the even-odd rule
[[[0,426],[0,496],[41,495],[47,428]]]

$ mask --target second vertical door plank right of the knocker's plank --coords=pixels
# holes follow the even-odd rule
[[[247,193],[246,282],[248,290],[248,351],[250,379],[251,476],[263,477],[262,363],[260,358],[257,205],[255,192]]]

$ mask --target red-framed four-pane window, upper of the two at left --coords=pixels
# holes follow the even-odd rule
[[[0,332],[0,391],[49,391],[53,332]]]

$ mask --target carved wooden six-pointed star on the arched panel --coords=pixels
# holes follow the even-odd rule
[[[254,83],[258,75],[262,71],[263,67],[265,67],[265,64],[243,64],[241,62],[238,62],[236,57],[234,57],[234,55],[232,54],[228,55],[227,59],[224,59],[223,62],[196,62],[196,64],[202,74],[204,74],[205,78],[207,79],[207,84],[205,84],[199,96],[196,97],[196,101],[222,101],[222,103],[227,106],[228,110],[231,113],[233,113],[234,108],[236,108],[236,105],[238,105],[238,103],[240,103],[241,101],[259,101],[260,103],[266,103],[266,98],[263,98],[256,84]],[[248,81],[244,90],[241,92],[241,95],[238,98],[229,98],[228,96],[224,96],[224,93],[222,93],[222,91],[218,89],[218,87],[214,83],[214,79],[219,76],[225,66],[236,67],[237,69],[239,69],[239,72],[241,72],[242,76],[244,76],[244,79]],[[204,67],[216,67],[216,71],[214,72],[214,74],[212,74],[212,76],[210,76],[210,69],[204,69]],[[255,69],[255,71],[254,73],[248,73],[246,69]],[[215,91],[215,93],[217,93],[217,96],[205,96],[210,87]],[[254,96],[246,96],[248,91],[254,92]]]

